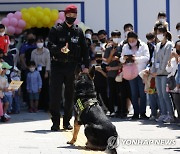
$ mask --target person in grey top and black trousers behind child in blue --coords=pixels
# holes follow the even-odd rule
[[[44,40],[38,37],[36,41],[37,48],[31,53],[31,60],[36,63],[37,70],[42,78],[42,90],[39,99],[39,109],[48,111],[49,109],[49,73],[50,73],[50,52],[44,47]]]

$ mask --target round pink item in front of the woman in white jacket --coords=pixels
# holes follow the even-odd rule
[[[127,63],[122,68],[123,78],[126,80],[132,80],[138,76],[138,68],[135,63]]]

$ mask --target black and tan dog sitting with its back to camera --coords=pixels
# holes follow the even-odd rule
[[[75,121],[73,138],[68,144],[74,144],[80,125],[85,126],[86,147],[93,150],[109,149],[116,153],[117,131],[107,118],[96,98],[95,87],[89,74],[81,73],[75,83]],[[113,144],[113,145],[112,145]]]

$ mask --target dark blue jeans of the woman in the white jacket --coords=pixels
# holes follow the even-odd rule
[[[140,76],[130,80],[132,105],[134,108],[134,114],[145,114],[146,113],[146,94],[144,92],[144,84]],[[139,103],[140,97],[140,103]]]

